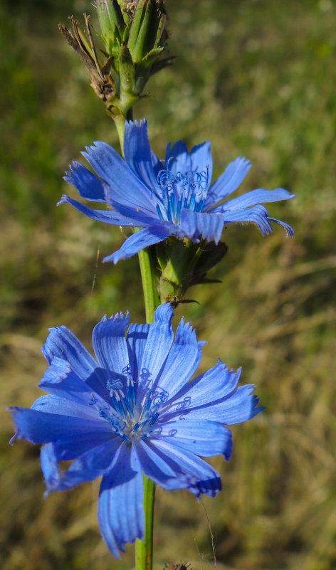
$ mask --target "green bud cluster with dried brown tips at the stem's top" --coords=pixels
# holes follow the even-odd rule
[[[172,63],[162,59],[167,33],[163,0],[95,0],[102,48],[96,48],[86,14],[85,31],[59,28],[88,70],[95,93],[112,118],[130,116],[153,73]],[[99,54],[99,56],[98,56]]]

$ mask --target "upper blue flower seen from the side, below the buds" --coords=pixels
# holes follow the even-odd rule
[[[275,202],[294,197],[283,188],[257,189],[223,202],[236,190],[251,164],[238,157],[211,184],[212,157],[210,142],[188,151],[184,142],[167,145],[164,161],[152,152],[147,122],[126,122],[125,160],[105,142],[87,147],[83,156],[98,174],[94,176],[80,162],[73,162],[64,177],[87,200],[106,202],[110,210],[94,210],[63,196],[79,211],[99,221],[117,226],[142,228],[122,244],[120,250],[104,260],[117,263],[168,236],[200,238],[216,243],[227,223],[254,222],[265,235],[272,231],[271,221],[280,223],[288,235],[293,228],[268,216],[262,202]]]

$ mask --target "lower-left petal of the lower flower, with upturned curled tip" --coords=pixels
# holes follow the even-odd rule
[[[56,463],[56,460],[60,459],[59,450],[56,450],[53,443],[45,445],[41,450],[41,468],[48,492],[70,489],[79,483],[93,481],[96,477],[107,473],[121,443],[122,440],[118,437],[105,441],[81,454],[73,461],[70,468],[63,472],[60,472]]]

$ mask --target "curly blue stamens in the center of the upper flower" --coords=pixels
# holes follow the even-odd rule
[[[209,188],[209,168],[201,172],[176,172],[169,169],[159,171],[157,186],[152,198],[156,203],[160,220],[181,222],[182,209],[200,212],[206,201]]]

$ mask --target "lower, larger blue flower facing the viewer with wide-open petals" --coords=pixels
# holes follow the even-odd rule
[[[164,489],[216,495],[219,473],[202,457],[231,455],[226,425],[256,416],[253,386],[237,388],[240,370],[218,361],[189,381],[203,342],[188,323],[174,339],[172,307],[160,305],[152,324],[129,324],[122,313],[93,329],[96,360],[66,327],[51,329],[42,352],[49,366],[31,409],[10,408],[16,438],[44,443],[48,491],[103,475],[98,520],[107,547],[119,556],[143,537],[142,472]],[[73,460],[61,471],[58,462]]]

